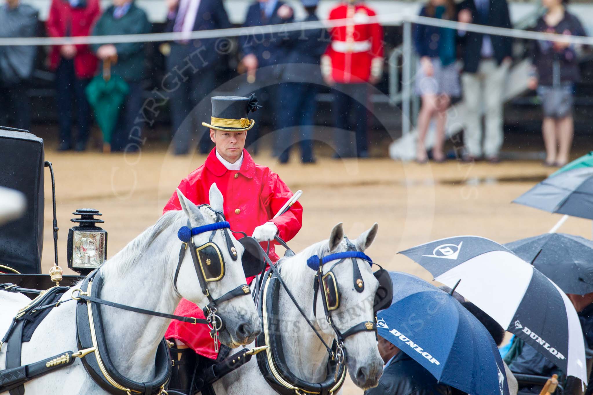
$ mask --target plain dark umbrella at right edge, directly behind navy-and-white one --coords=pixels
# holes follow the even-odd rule
[[[593,241],[566,233],[544,233],[505,247],[531,262],[565,293],[593,292]]]

